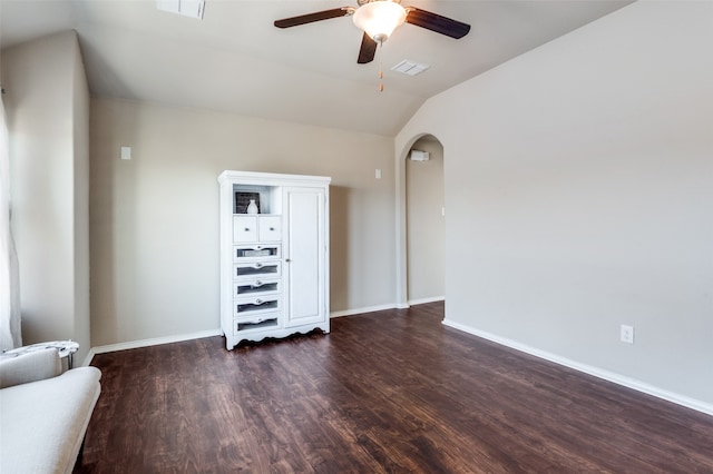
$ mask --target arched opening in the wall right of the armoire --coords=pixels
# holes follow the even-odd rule
[[[443,146],[423,134],[404,147],[398,166],[397,269],[400,307],[445,298]]]

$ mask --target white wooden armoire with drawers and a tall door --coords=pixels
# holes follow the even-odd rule
[[[331,178],[223,171],[221,329],[241,340],[330,332]]]

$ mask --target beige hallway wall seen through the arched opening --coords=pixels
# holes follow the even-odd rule
[[[443,146],[432,136],[413,144],[428,161],[406,160],[409,304],[441,299],[443,293]]]

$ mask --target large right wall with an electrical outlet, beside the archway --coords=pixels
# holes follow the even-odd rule
[[[414,115],[395,149],[445,149],[447,323],[713,413],[711,18],[636,2]]]

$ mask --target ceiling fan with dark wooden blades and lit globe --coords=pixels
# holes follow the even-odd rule
[[[470,24],[416,7],[402,7],[401,0],[356,0],[356,2],[359,3],[356,8],[333,8],[277,20],[275,21],[275,27],[291,28],[331,18],[352,17],[354,24],[364,31],[359,58],[356,59],[360,65],[373,61],[377,46],[388,40],[393,30],[403,24],[403,22],[455,39],[460,39],[470,31]]]

